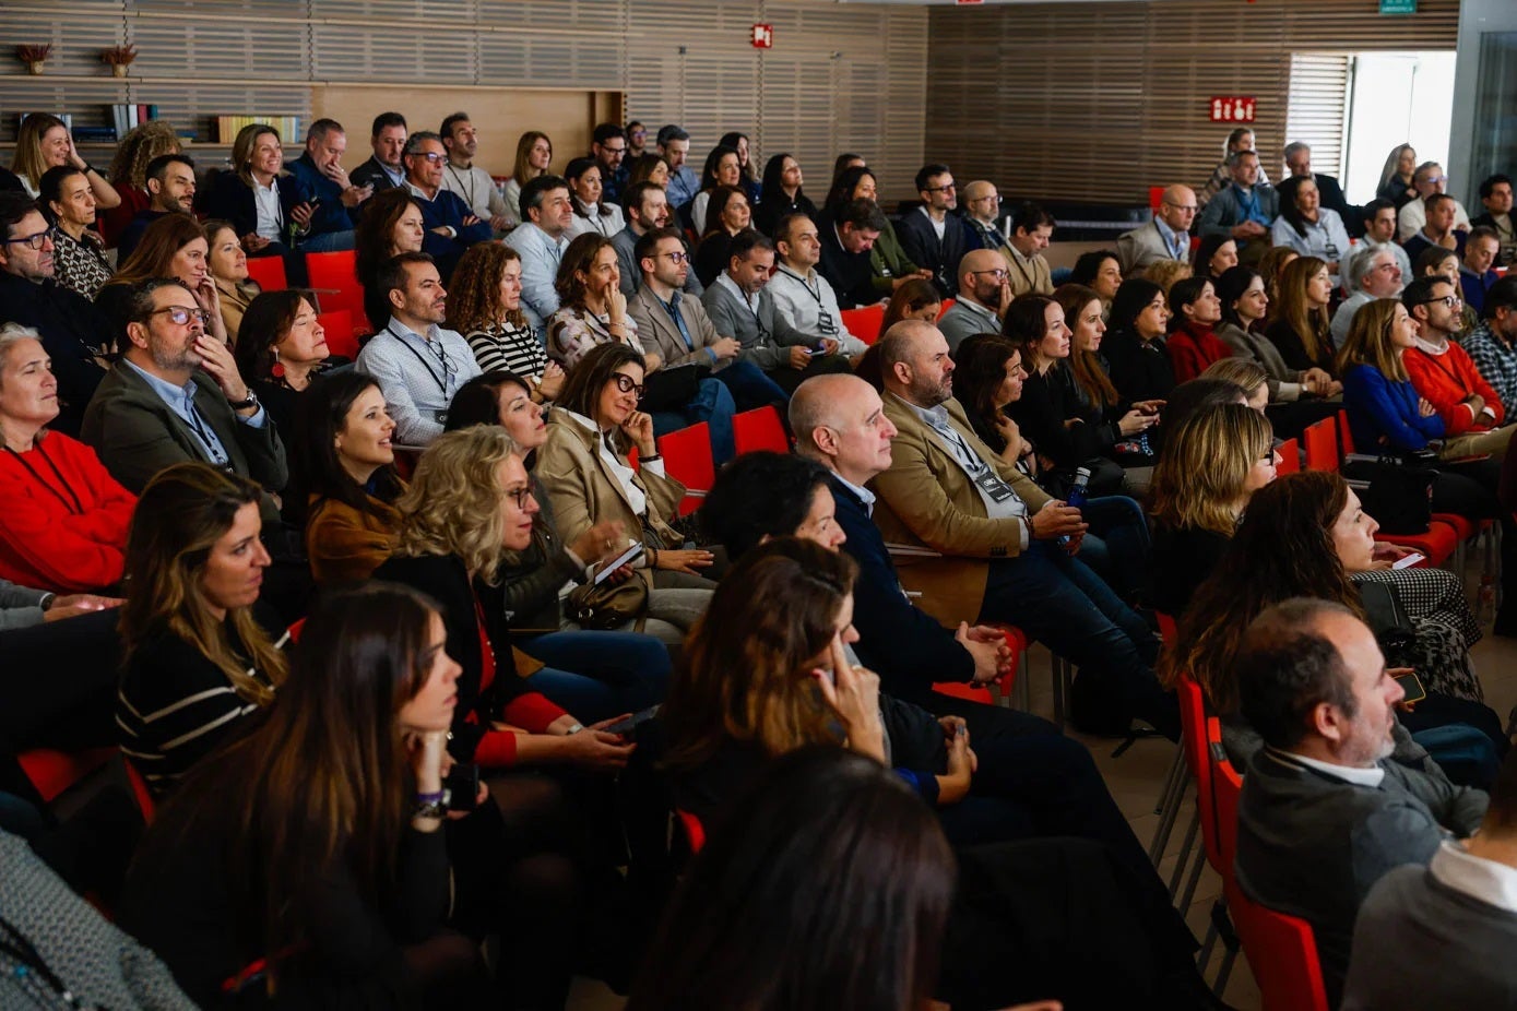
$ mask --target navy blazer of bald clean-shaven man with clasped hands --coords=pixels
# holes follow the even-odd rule
[[[854,626],[860,638],[854,650],[880,675],[880,690],[927,705],[933,697],[933,682],[974,678],[969,650],[901,591],[901,577],[895,573],[884,537],[869,518],[863,500],[836,477],[827,484],[836,503],[837,526],[848,535],[843,550],[859,562]]]

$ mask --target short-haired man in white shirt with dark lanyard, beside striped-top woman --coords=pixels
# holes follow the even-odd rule
[[[458,387],[479,374],[469,343],[438,326],[448,291],[426,253],[400,253],[379,268],[390,324],[358,352],[358,371],[373,376],[394,420],[394,441],[426,446],[443,434]]]

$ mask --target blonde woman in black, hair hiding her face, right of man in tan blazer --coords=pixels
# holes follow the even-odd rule
[[[1274,480],[1280,455],[1264,417],[1241,405],[1195,411],[1171,429],[1148,488],[1148,600],[1179,618],[1212,574],[1248,497]]]

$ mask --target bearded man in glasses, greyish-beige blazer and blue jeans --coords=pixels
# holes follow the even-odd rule
[[[680,232],[654,229],[637,239],[637,265],[643,283],[627,300],[627,314],[637,323],[643,347],[657,350],[664,368],[690,362],[708,367],[731,391],[739,411],[790,399],[755,364],[739,358],[742,343],[716,332],[699,299],[681,291],[690,255]]]

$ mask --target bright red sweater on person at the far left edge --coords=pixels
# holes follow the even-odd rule
[[[0,452],[0,577],[53,593],[118,582],[133,508],[137,496],[67,435]]]

